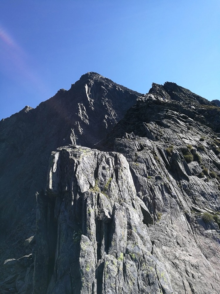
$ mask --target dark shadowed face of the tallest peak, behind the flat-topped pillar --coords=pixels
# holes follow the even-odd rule
[[[92,147],[138,95],[99,74],[87,73],[69,91],[61,89],[35,109],[27,106],[1,120],[1,263],[8,256],[30,253],[31,246],[23,243],[35,233],[35,193],[45,190],[51,152],[65,144]]]

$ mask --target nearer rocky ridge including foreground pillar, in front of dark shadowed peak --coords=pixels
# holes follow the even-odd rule
[[[54,148],[36,231],[26,255],[7,255],[1,293],[219,293],[219,110],[153,84],[97,149]]]

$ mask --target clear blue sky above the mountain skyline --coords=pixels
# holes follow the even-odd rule
[[[220,99],[220,1],[0,0],[0,119],[88,71]]]

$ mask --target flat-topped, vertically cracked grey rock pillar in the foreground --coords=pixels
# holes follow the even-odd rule
[[[173,293],[165,265],[152,255],[153,217],[136,195],[126,158],[67,146],[50,162],[44,197],[55,251],[41,235],[35,263],[42,254],[46,262],[35,270],[33,293]]]

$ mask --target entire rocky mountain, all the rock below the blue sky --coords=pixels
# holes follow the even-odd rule
[[[0,293],[219,294],[220,108],[90,72],[0,121]]]

